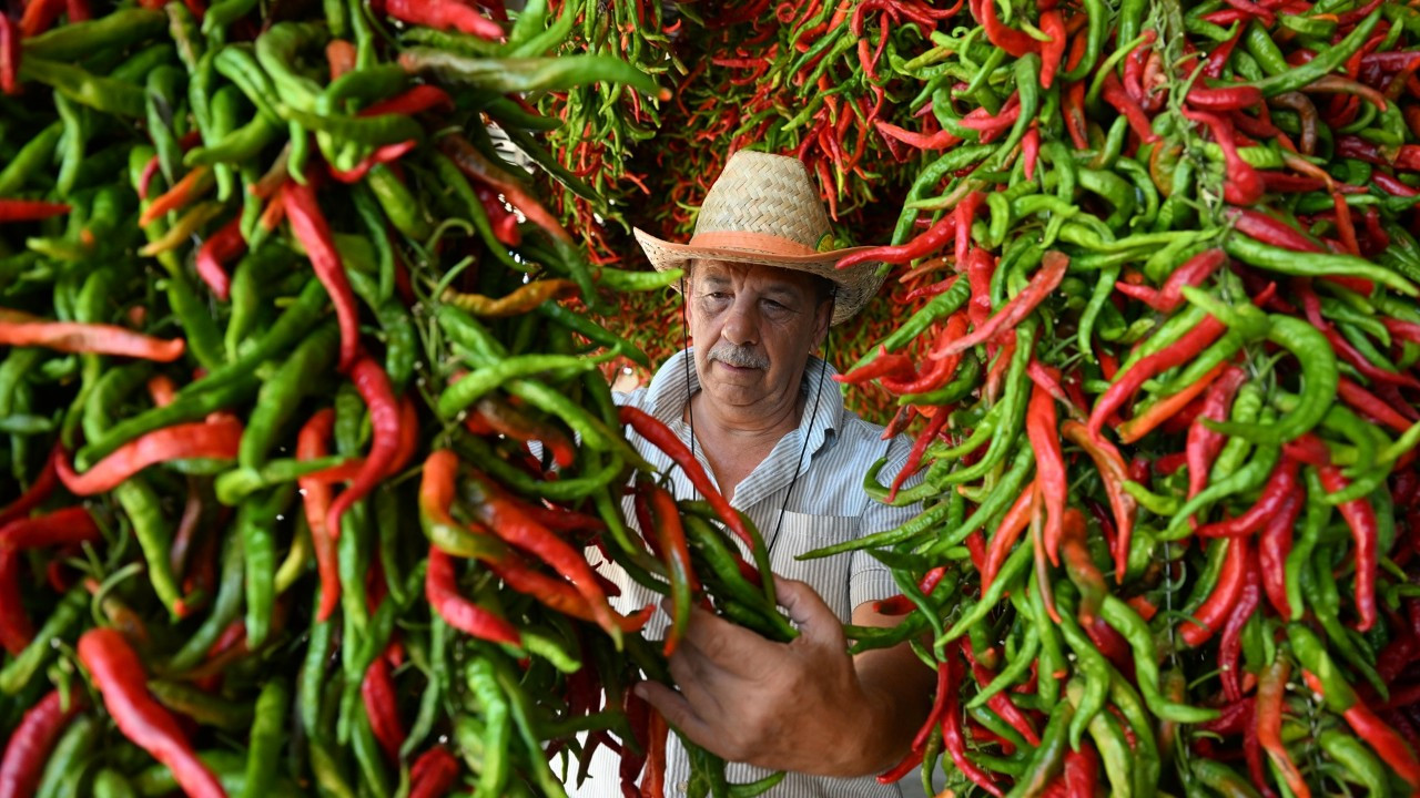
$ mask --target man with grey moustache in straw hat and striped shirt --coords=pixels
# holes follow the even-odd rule
[[[799,628],[788,645],[696,611],[670,659],[677,690],[638,690],[692,741],[731,763],[731,781],[791,771],[768,795],[899,795],[872,778],[906,754],[926,716],[932,672],[906,645],[846,653],[841,623],[888,626],[872,602],[896,594],[865,554],[798,561],[809,550],[892,528],[916,514],[870,501],[863,473],[902,439],[843,409],[834,369],[812,352],[831,324],[876,293],[876,264],[838,271],[828,219],[804,165],[738,152],[706,196],[689,244],[636,236],[657,270],[686,268],[684,312],[693,348],[670,358],[648,389],[622,398],[666,422],[707,467],[731,504],[748,513],[770,548],[778,596]],[[677,498],[694,488],[653,447],[643,456],[674,476]],[[652,596],[619,571],[619,609]],[[665,616],[657,615],[665,623]],[[667,795],[689,765],[672,738]],[[619,795],[613,757],[599,757],[582,795]]]

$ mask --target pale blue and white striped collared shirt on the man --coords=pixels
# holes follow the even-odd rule
[[[690,443],[690,425],[683,420],[686,402],[699,390],[699,378],[692,349],[672,356],[656,372],[649,388],[629,395],[618,395],[618,402],[636,406],[665,422],[682,440]],[[689,371],[689,376],[687,376]],[[798,561],[795,555],[825,545],[859,538],[866,534],[890,530],[917,514],[917,507],[888,507],[872,501],[862,488],[868,469],[879,459],[888,464],[879,474],[890,480],[906,463],[910,443],[905,437],[883,440],[883,427],[859,419],[843,408],[843,395],[831,381],[836,371],[818,358],[811,358],[804,372],[801,390],[805,395],[804,415],[798,429],[780,439],[748,477],[736,488],[730,501],[754,520],[770,548],[770,562],[774,572],[808,582],[824,598],[825,603],[848,622],[853,608],[863,602],[882,599],[897,592],[890,571],[863,552],[846,552],[835,557]],[[804,440],[808,437],[808,446]],[[696,497],[694,487],[670,459],[645,440],[636,437],[636,447],[656,470],[672,474],[676,498]],[[701,446],[696,446],[696,459],[710,479],[710,470]],[[802,453],[802,461],[799,454]],[[795,480],[795,474],[798,479]],[[792,488],[792,490],[791,490]],[[788,494],[788,504],[785,504]],[[780,518],[781,510],[782,520]],[[635,523],[635,513],[628,503],[628,520]],[[738,542],[738,541],[736,541]],[[741,550],[744,547],[741,545]],[[744,551],[744,554],[748,554]],[[592,562],[601,555],[589,550]],[[622,595],[613,601],[621,612],[633,612],[659,596],[630,581],[621,568],[601,561],[598,568],[615,581]],[[646,635],[660,638],[667,618],[656,613],[646,628]],[[684,792],[689,778],[689,760],[680,740],[672,734],[667,745],[666,794],[674,797]],[[592,761],[591,778],[582,789],[568,789],[569,795],[586,798],[615,798],[621,795],[618,772],[619,758],[599,748]],[[575,771],[575,768],[574,768]],[[754,781],[770,771],[744,764],[731,764],[731,782]],[[897,785],[882,785],[873,777],[822,778],[802,774],[788,774],[774,789],[765,792],[770,798],[899,798]]]

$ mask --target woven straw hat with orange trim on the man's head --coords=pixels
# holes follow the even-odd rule
[[[831,280],[838,285],[832,324],[852,318],[883,281],[876,275],[876,263],[834,268],[843,256],[869,247],[834,248],[834,231],[808,168],[787,155],[747,149],[731,155],[700,206],[690,243],[674,244],[640,229],[636,240],[657,271],[707,258],[760,263]]]

